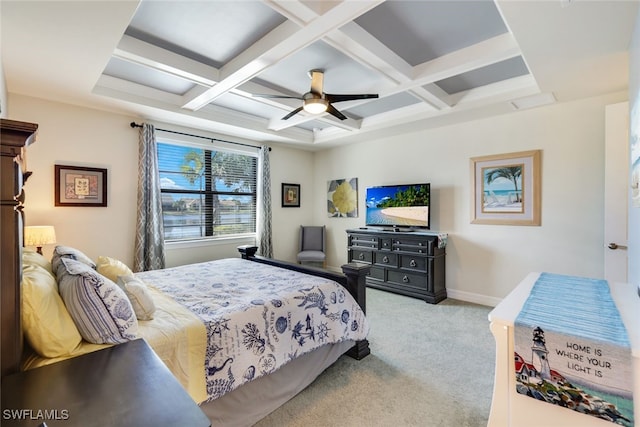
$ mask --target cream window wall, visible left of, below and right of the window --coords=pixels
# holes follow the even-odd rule
[[[10,119],[38,123],[36,143],[28,151],[34,171],[26,184],[26,224],[56,227],[59,244],[88,256],[107,255],[133,264],[137,198],[138,130],[127,117],[16,94],[9,95]],[[299,224],[311,215],[312,153],[274,147],[270,153],[273,191],[274,255],[295,260]],[[55,207],[54,165],[108,170],[108,207]],[[281,208],[280,183],[302,186],[301,208]],[[254,239],[167,247],[167,266],[238,256],[236,247]],[[53,247],[45,247],[46,256]]]

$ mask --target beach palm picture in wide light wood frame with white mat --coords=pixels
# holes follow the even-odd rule
[[[472,157],[471,223],[540,225],[542,150]]]

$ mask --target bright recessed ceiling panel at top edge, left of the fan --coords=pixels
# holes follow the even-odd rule
[[[220,67],[285,21],[258,1],[143,1],[125,34]]]

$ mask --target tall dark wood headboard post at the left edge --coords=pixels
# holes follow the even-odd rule
[[[0,119],[0,374],[20,370],[22,359],[22,237],[24,226],[22,186],[26,172],[26,148],[35,141],[38,125]]]

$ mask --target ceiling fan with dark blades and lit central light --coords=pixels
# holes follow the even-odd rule
[[[323,70],[311,70],[309,71],[309,76],[311,77],[311,89],[309,92],[305,93],[302,96],[287,96],[287,95],[253,95],[255,97],[260,98],[292,98],[292,99],[301,99],[302,106],[296,108],[286,116],[282,118],[282,120],[287,120],[290,117],[298,114],[300,111],[304,110],[310,114],[321,114],[325,111],[329,114],[339,118],[340,120],[345,120],[347,116],[338,111],[332,104],[335,102],[342,101],[353,101],[356,99],[370,99],[377,98],[378,94],[331,94],[324,93],[322,91],[323,81],[324,81],[324,71]]]

